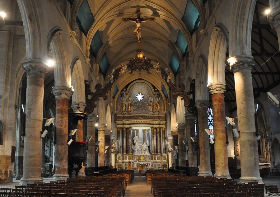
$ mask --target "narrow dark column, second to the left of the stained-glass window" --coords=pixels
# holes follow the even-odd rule
[[[186,125],[184,123],[179,123],[177,125],[179,144],[179,166],[186,166],[185,145],[183,143],[183,141],[185,140],[185,128]]]

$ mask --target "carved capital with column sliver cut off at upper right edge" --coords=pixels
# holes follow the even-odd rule
[[[275,3],[276,4],[276,3]],[[277,32],[278,45],[280,49],[280,4],[271,7],[271,12],[269,13],[269,23],[273,30]]]

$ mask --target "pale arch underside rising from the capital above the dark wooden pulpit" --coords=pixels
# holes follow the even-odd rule
[[[82,63],[79,58],[75,58],[71,64],[71,84],[74,88],[72,95],[72,104],[85,104],[85,84],[84,75],[82,73]]]

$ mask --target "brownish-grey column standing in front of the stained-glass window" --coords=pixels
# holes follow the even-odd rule
[[[198,111],[198,129],[199,129],[199,152],[200,152],[200,167],[198,176],[212,176],[210,166],[210,141],[209,135],[204,129],[209,129],[208,126],[208,101],[196,101]]]

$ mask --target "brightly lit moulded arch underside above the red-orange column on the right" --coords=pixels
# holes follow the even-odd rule
[[[225,62],[226,62],[226,36],[219,27],[214,27],[211,35],[208,55],[207,85],[226,85]]]

